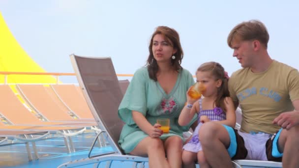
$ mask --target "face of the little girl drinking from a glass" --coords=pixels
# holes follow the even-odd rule
[[[196,82],[204,85],[206,88],[206,91],[203,92],[204,97],[216,96],[218,87],[222,84],[222,81],[216,80],[209,71],[198,71],[196,73]]]

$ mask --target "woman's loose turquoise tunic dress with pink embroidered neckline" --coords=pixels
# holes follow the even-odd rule
[[[188,70],[181,69],[173,90],[166,94],[158,82],[149,78],[147,68],[137,70],[132,78],[126,93],[120,103],[119,117],[125,122],[120,134],[119,145],[125,153],[130,153],[137,144],[148,137],[132,118],[132,111],[141,112],[151,125],[158,118],[170,118],[170,132],[163,134],[160,139],[170,136],[179,136],[188,131],[193,120],[187,126],[179,126],[178,118],[186,102],[186,91],[194,84],[192,75]]]

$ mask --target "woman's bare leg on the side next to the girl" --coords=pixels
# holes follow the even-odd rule
[[[167,161],[171,168],[181,168],[182,145],[183,141],[179,136],[169,137],[164,142]]]

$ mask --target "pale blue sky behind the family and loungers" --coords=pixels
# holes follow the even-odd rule
[[[251,19],[268,28],[271,58],[299,68],[297,0],[0,0],[0,12],[23,49],[47,72],[73,73],[70,54],[111,57],[119,74],[145,65],[158,26],[176,29],[182,67],[207,61],[231,75],[241,68],[227,36]],[[0,37],[1,38],[1,37]],[[75,77],[61,77],[77,83]]]

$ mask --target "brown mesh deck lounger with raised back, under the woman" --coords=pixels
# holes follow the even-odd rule
[[[148,158],[125,155],[118,146],[120,132],[124,123],[118,116],[118,107],[122,99],[122,91],[113,67],[111,58],[102,57],[82,57],[71,55],[71,62],[80,87],[83,89],[85,98],[90,106],[98,126],[107,141],[113,148],[113,152],[91,156],[95,138],[89,153],[89,158],[71,161],[59,166],[59,168],[79,167],[90,164],[99,165],[106,162],[106,167],[110,168],[112,161],[133,162],[133,167],[141,163],[141,167]]]

